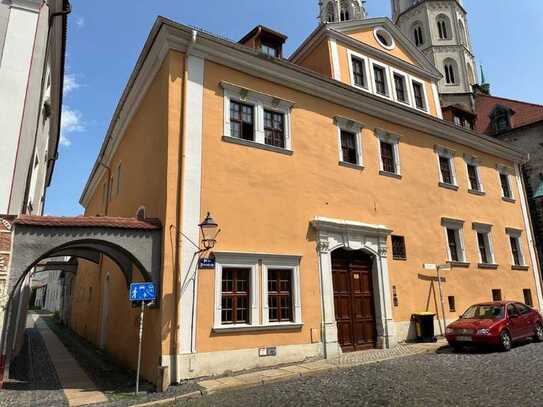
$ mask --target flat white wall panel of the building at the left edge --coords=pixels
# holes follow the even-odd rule
[[[0,213],[4,214],[8,211],[37,21],[37,10],[12,6],[0,65]]]

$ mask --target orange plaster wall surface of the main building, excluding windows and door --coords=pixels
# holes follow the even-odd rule
[[[184,146],[180,145],[184,125],[180,120],[184,105],[184,61],[183,54],[169,53],[129,123],[111,166],[116,168],[116,164],[122,161],[123,175],[121,193],[113,196],[108,214],[131,216],[140,205],[145,205],[147,215],[161,218],[164,224],[162,305],[156,316],[151,314],[149,317],[151,335],[154,336],[144,342],[145,353],[151,355],[144,363],[144,374],[150,380],[156,379],[158,354],[162,356],[163,363],[169,364],[178,343],[175,309],[179,298],[176,277],[179,257],[175,233],[182,227],[179,223],[183,205],[179,204],[179,171],[183,163],[182,154],[185,153]],[[221,81],[294,102],[292,155],[222,140],[224,100]],[[492,288],[502,288],[505,298],[519,300],[522,300],[523,288],[536,293],[532,264],[529,264],[530,271],[511,270],[505,228],[524,230],[524,223],[519,201],[509,203],[501,200],[496,164],[513,167],[512,162],[210,61],[205,62],[203,88],[200,219],[211,211],[220,224],[222,232],[215,247],[217,251],[301,256],[303,327],[290,332],[215,334],[212,331],[216,306],[214,270],[201,270],[198,272],[196,307],[198,354],[182,355],[178,359],[180,362],[186,359],[187,372],[191,369],[191,357],[197,358],[200,353],[212,355],[214,352],[255,350],[265,346],[300,346],[299,349],[303,349],[311,344],[312,329],[319,332],[322,323],[316,236],[310,226],[310,221],[316,216],[385,225],[394,234],[406,237],[408,260],[387,258],[390,274],[387,288],[392,290],[395,286],[399,300],[399,305],[393,308],[396,323],[407,323],[415,311],[437,310],[435,287],[431,284],[433,275],[423,271],[421,265],[440,263],[447,258],[442,217],[465,221],[464,239],[470,265],[454,268],[444,276],[445,295],[456,296],[459,312],[473,302],[489,300]],[[361,135],[364,168],[338,165],[335,116],[364,124]],[[189,120],[200,118],[191,117]],[[376,128],[400,137],[401,179],[379,175]],[[436,144],[456,152],[454,166],[458,191],[438,186]],[[482,162],[480,171],[485,196],[467,192],[464,153],[475,155]],[[99,185],[106,185],[105,176]],[[518,197],[515,182],[513,190]],[[88,215],[103,213],[102,196],[102,189],[98,188],[87,205]],[[473,222],[493,225],[498,270],[477,267],[478,248]],[[526,233],[522,235],[521,244],[530,262]],[[387,245],[390,253],[390,241]],[[100,275],[103,272],[79,273],[80,281],[76,282],[75,290],[83,287],[84,293],[92,286],[92,298],[90,303],[74,301],[72,314],[72,324],[79,326],[76,329],[80,331],[83,331],[81,323],[84,318],[87,321],[92,319],[92,323],[87,322],[83,334],[95,341],[100,329],[97,305],[101,292],[100,277],[97,276]],[[115,326],[108,325],[107,328],[117,329],[114,332],[118,334],[108,334],[106,347],[116,357],[133,365],[135,353],[127,345],[127,337],[131,337],[133,332],[130,325],[134,314],[125,302],[126,292],[122,284],[115,283],[118,275],[111,272],[112,291],[115,290],[114,297],[118,302],[110,307],[111,324]],[[84,294],[82,296],[84,298]],[[446,313],[448,319],[457,316],[454,312]]]

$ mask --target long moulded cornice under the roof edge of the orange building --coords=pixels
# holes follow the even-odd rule
[[[368,94],[286,60],[266,57],[256,50],[159,17],[119,101],[102,149],[81,196],[80,202],[83,206],[88,204],[104,171],[100,162],[107,165],[111,160],[139,101],[170,50],[196,53],[204,56],[206,60],[240,72],[265,78],[278,85],[288,86],[396,125],[485,151],[502,159],[524,162],[527,158],[524,152],[504,142],[481,136],[426,113]]]

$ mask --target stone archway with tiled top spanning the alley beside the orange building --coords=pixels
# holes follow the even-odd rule
[[[13,223],[12,242],[0,343],[5,369],[22,343],[30,275],[47,259],[74,257],[98,264],[101,256],[107,256],[121,270],[127,286],[136,269],[144,281],[160,288],[162,225],[156,219],[22,216]]]

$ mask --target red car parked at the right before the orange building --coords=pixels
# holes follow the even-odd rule
[[[445,336],[454,349],[490,345],[508,351],[520,339],[543,341],[543,319],[539,312],[516,301],[476,304],[447,327]]]

